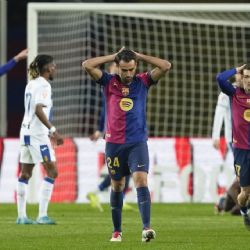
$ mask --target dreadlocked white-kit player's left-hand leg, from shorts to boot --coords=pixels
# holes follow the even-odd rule
[[[26,214],[28,182],[32,176],[34,164],[28,146],[21,146],[20,152],[21,172],[17,182],[17,224],[33,224]],[[27,163],[26,163],[27,162]]]

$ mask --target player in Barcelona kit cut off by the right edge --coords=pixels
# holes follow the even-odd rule
[[[243,88],[235,88],[228,81],[236,73],[242,74]],[[226,70],[218,74],[217,81],[221,90],[231,99],[234,167],[241,188],[237,199],[244,224],[250,230],[248,215],[250,204],[250,69],[244,64]]]

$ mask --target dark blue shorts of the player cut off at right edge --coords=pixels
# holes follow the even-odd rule
[[[240,177],[240,186],[250,186],[250,150],[234,148],[234,169]]]

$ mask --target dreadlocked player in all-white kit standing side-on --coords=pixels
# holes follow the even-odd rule
[[[52,143],[63,144],[62,136],[50,122],[52,100],[49,80],[53,80],[55,71],[56,65],[49,55],[38,55],[29,66],[31,80],[25,88],[25,113],[20,131],[21,173],[17,185],[17,224],[55,224],[47,215],[57,177]],[[47,176],[41,187],[39,215],[33,221],[26,214],[27,186],[33,167],[39,162],[42,162]]]

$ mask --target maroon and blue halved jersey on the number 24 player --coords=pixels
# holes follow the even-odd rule
[[[103,71],[97,83],[104,88],[106,141],[117,144],[146,141],[146,100],[150,86],[156,84],[150,73],[137,74],[127,85],[118,75]]]

